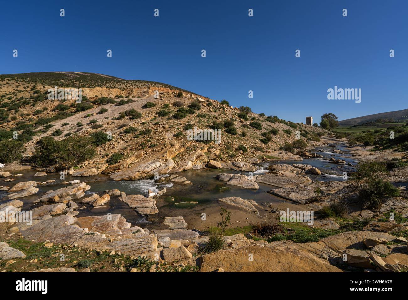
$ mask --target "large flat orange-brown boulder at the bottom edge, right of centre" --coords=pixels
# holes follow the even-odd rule
[[[198,258],[201,272],[341,272],[328,261],[298,249],[249,246]]]

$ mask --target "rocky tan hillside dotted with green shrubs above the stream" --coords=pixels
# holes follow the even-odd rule
[[[93,160],[86,165],[96,163],[105,168],[113,153],[118,153],[116,161],[127,165],[140,160],[135,155],[144,161],[169,149],[174,151],[169,157],[176,166],[186,164],[192,156],[195,160],[197,151],[204,153],[200,157],[203,163],[208,159],[226,162],[288,158],[293,154],[279,147],[293,142],[295,131],[300,131],[310,147],[318,143],[319,136],[328,133],[276,116],[255,114],[248,107],[238,109],[160,82],[78,72],[12,74],[1,75],[0,79],[1,139],[11,138],[18,131],[19,140],[25,143],[26,159],[41,138],[64,140],[101,132],[111,132],[112,139],[97,144]],[[82,103],[49,100],[47,91],[55,85],[82,88]],[[156,90],[160,92],[157,99]],[[220,144],[187,140],[186,130],[195,126],[222,129]]]

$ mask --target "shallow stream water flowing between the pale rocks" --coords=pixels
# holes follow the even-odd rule
[[[280,160],[271,162],[273,164],[310,164],[313,167],[317,167],[325,175],[317,176],[304,174],[309,176],[313,180],[320,181],[329,181],[329,180],[343,180],[343,172],[350,172],[354,170],[352,166],[340,166],[338,164],[329,163],[328,160],[330,157],[335,159],[343,159],[346,162],[350,162],[355,165],[357,162],[348,154],[348,151],[345,148],[346,145],[329,145],[324,148],[317,148],[316,153],[324,156],[324,158],[311,158],[304,159],[303,161],[293,161],[293,160]],[[334,149],[341,150],[344,154],[336,154],[331,151]],[[266,172],[266,168],[269,163],[260,163],[258,165],[259,169],[253,173],[253,175],[260,175]],[[179,176],[184,176],[190,180],[193,184],[188,185],[178,185],[173,183],[163,183],[157,184],[151,179],[143,179],[136,181],[113,181],[107,175],[99,174],[97,176],[89,177],[72,177],[65,176],[64,180],[60,179],[60,175],[57,173],[51,173],[44,177],[33,177],[36,171],[34,170],[24,170],[21,171],[23,176],[12,177],[15,178],[13,182],[4,182],[13,186],[14,184],[20,181],[35,180],[38,182],[46,180],[55,180],[52,184],[47,186],[37,185],[38,193],[33,196],[24,197],[20,200],[24,202],[22,210],[32,209],[33,201],[40,198],[46,191],[56,190],[62,187],[67,187],[66,184],[61,184],[63,181],[71,181],[75,179],[81,180],[81,182],[86,182],[91,186],[89,191],[86,191],[86,194],[90,196],[92,193],[98,193],[100,196],[104,191],[111,189],[118,189],[126,193],[126,195],[131,194],[142,194],[151,190],[153,192],[158,192],[164,187],[167,189],[167,192],[157,198],[156,206],[159,209],[159,213],[153,216],[141,216],[127,204],[120,201],[117,197],[112,197],[111,200],[104,204],[103,207],[92,207],[89,204],[81,204],[78,202],[80,208],[78,209],[79,214],[77,217],[82,216],[93,216],[93,215],[106,215],[106,213],[120,213],[128,222],[131,222],[133,225],[139,225],[144,227],[149,227],[150,225],[155,224],[155,220],[164,216],[186,216],[186,215],[198,215],[203,208],[205,207],[214,207],[218,206],[217,200],[225,197],[241,197],[243,199],[253,199],[257,203],[279,203],[286,202],[279,197],[273,196],[270,193],[267,193],[273,187],[268,184],[258,183],[259,189],[249,190],[242,187],[237,187],[233,185],[226,184],[226,182],[217,180],[214,178],[218,173],[241,173],[244,175],[249,175],[248,172],[237,172],[229,169],[224,170],[193,170],[182,171],[177,173]],[[17,174],[18,172],[15,172]],[[13,174],[14,175],[14,174]],[[168,175],[164,175],[168,176]],[[2,184],[4,185],[4,184]],[[6,202],[2,200],[2,197],[6,194],[6,191],[0,191],[0,204]],[[87,196],[86,195],[86,196]],[[174,200],[172,199],[174,198]],[[197,202],[197,203],[195,203]],[[36,206],[35,206],[36,207]],[[157,224],[155,224],[157,225]]]

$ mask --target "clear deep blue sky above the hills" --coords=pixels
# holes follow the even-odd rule
[[[406,0],[3,1],[0,73],[103,73],[295,122],[343,120],[408,108],[407,12]],[[361,103],[328,100],[335,85],[361,88]]]

